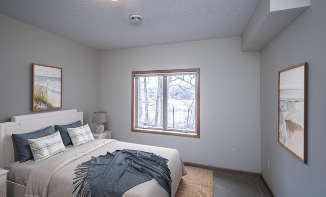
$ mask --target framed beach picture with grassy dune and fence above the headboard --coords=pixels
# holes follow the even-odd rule
[[[33,111],[62,108],[62,68],[33,64]]]

